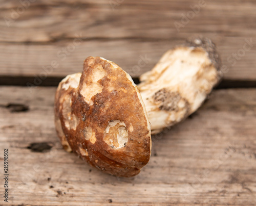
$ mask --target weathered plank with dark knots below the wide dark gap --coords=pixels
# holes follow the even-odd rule
[[[256,89],[214,91],[196,114],[153,137],[150,162],[132,178],[61,149],[55,89],[0,88],[0,149],[9,149],[10,171],[10,202],[1,205],[256,205]],[[40,142],[52,148],[28,148]]]

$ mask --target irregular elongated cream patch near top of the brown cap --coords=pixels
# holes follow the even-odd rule
[[[103,86],[99,84],[98,81],[106,74],[106,71],[100,64],[97,64],[92,72],[92,82],[90,82],[90,84],[83,83],[80,91],[80,94],[84,97],[84,101],[86,101],[89,106],[93,105],[92,97],[102,92]]]

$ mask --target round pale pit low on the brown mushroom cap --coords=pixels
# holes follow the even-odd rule
[[[120,149],[128,141],[128,131],[123,121],[111,121],[104,131],[104,141],[111,148]]]

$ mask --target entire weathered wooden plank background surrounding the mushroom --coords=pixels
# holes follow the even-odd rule
[[[0,205],[256,205],[255,1],[205,0],[180,31],[175,22],[201,1],[30,1],[0,0],[0,149],[9,149],[10,173]],[[153,137],[138,176],[101,173],[61,148],[56,85],[86,57],[112,60],[138,81],[194,36],[216,42],[224,80],[199,111]]]

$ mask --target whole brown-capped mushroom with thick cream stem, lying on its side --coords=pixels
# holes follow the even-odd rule
[[[150,160],[151,130],[159,133],[195,112],[219,82],[219,68],[216,47],[206,38],[167,51],[138,87],[117,64],[88,57],[82,73],[57,88],[57,134],[67,151],[92,166],[137,175]]]

